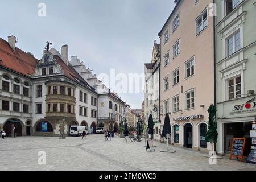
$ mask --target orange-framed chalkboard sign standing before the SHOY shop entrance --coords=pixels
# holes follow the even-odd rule
[[[245,150],[245,138],[233,138],[232,149],[229,159],[232,157],[240,158],[240,162],[243,160],[243,150]]]

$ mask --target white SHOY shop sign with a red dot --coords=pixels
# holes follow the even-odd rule
[[[241,114],[241,113],[253,113],[256,112],[256,101],[255,97],[246,103],[240,105],[234,105],[230,114]]]

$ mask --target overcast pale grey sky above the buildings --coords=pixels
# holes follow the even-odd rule
[[[154,39],[172,9],[173,0],[0,0],[1,38],[18,37],[17,47],[42,58],[45,42],[78,56],[93,73],[143,73],[150,63]],[[38,16],[39,3],[46,17]],[[109,85],[109,83],[105,83]],[[110,88],[115,90],[115,88]],[[144,95],[119,94],[132,109],[141,109]]]

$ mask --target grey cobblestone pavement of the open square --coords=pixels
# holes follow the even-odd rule
[[[155,152],[146,151],[145,142],[125,142],[123,138],[105,141],[104,135],[92,134],[59,139],[18,137],[0,139],[1,170],[256,170],[255,164],[228,158],[209,165],[205,154],[171,146],[174,154],[160,152],[166,144],[155,142]],[[46,152],[46,165],[38,164],[38,152]]]

